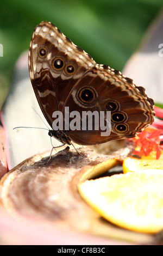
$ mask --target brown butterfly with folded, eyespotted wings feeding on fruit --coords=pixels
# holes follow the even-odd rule
[[[53,127],[53,113],[65,117],[76,111],[110,115],[110,135],[102,136],[92,116],[92,129],[62,129],[49,131],[64,144],[71,141],[93,145],[136,136],[154,120],[154,102],[143,87],[120,71],[99,65],[82,48],[73,44],[51,22],[42,21],[33,33],[29,48],[29,74],[37,101],[49,125]]]

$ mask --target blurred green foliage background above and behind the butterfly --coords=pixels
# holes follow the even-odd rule
[[[97,63],[122,70],[162,4],[162,0],[0,0],[0,107],[15,62],[28,50],[42,20],[51,21]]]

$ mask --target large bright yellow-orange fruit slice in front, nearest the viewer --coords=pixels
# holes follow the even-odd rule
[[[162,170],[137,170],[87,180],[78,189],[93,209],[120,227],[145,233],[163,228]]]

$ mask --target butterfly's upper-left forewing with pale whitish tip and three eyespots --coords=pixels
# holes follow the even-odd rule
[[[61,111],[71,88],[96,62],[47,21],[35,28],[28,59],[37,101],[52,127],[53,112]]]

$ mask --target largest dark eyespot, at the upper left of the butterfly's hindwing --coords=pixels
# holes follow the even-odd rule
[[[78,97],[80,101],[86,103],[92,103],[96,97],[96,93],[92,88],[83,88],[79,91]]]

